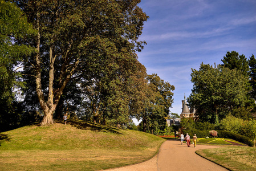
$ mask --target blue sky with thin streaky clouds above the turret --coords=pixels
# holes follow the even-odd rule
[[[142,0],[139,7],[149,16],[139,61],[175,86],[171,112],[180,114],[191,93],[191,68],[221,64],[227,51],[256,56],[255,0]]]

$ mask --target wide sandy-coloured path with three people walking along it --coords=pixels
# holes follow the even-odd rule
[[[169,170],[227,170],[213,162],[198,156],[195,151],[198,149],[218,148],[218,146],[192,144],[189,148],[186,144],[181,145],[180,141],[165,141],[159,150],[159,154],[151,160],[140,164],[125,166],[123,168],[109,169],[111,171],[169,171]]]

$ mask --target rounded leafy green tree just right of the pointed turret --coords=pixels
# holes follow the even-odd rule
[[[241,71],[201,63],[198,71],[192,69],[191,76],[193,89],[188,102],[200,121],[218,124],[248,100],[249,80]]]

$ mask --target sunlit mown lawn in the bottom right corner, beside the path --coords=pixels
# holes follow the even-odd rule
[[[196,153],[229,170],[256,170],[256,149],[249,146],[201,149]]]

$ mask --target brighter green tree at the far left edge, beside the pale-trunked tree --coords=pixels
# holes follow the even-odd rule
[[[22,56],[33,51],[20,41],[35,33],[21,9],[13,3],[0,1],[0,132],[13,127],[19,120],[13,108],[13,89],[22,84],[15,82],[18,75],[14,68]]]

